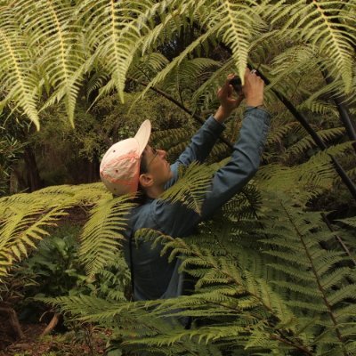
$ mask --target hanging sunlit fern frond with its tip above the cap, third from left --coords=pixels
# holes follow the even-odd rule
[[[164,3],[87,0],[78,6],[89,46],[108,71],[121,101],[124,101],[126,73],[143,45],[142,39],[154,28],[153,19],[165,12],[169,2]]]

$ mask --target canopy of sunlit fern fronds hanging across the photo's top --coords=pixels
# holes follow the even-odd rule
[[[62,101],[73,123],[86,77],[89,93],[114,89],[121,101],[130,77],[144,78],[148,88],[174,86],[180,101],[193,97],[195,107],[227,71],[236,69],[243,80],[249,59],[271,74],[271,87],[315,108],[321,94],[354,93],[355,7],[354,0],[4,1],[3,106],[14,103],[38,127],[41,110]],[[231,54],[216,56],[219,44]],[[174,48],[172,61],[166,46]],[[321,70],[333,84],[322,84]]]

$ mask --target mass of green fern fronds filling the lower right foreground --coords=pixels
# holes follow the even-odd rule
[[[165,244],[170,259],[184,255],[181,270],[197,280],[193,295],[135,303],[83,295],[47,301],[115,328],[117,347],[125,351],[353,354],[354,266],[336,233],[297,200],[279,194],[266,201],[254,232],[244,218],[207,223],[189,239],[141,231]],[[189,330],[176,324],[187,316],[194,317]]]

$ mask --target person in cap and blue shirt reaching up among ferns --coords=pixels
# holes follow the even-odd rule
[[[134,233],[150,228],[174,238],[190,235],[199,222],[239,192],[257,171],[270,115],[263,109],[263,80],[255,71],[247,69],[242,89],[247,109],[239,141],[234,145],[231,161],[214,174],[201,214],[180,203],[158,199],[177,181],[178,166],[204,162],[223,132],[223,121],[239,106],[243,98],[233,97],[232,77],[227,78],[217,93],[221,105],[214,117],[206,120],[173,165],[166,161],[165,150],[156,150],[148,144],[149,120],[142,124],[134,138],[117,142],[102,158],[101,180],[114,195],[142,190],[145,196],[142,205],[131,212],[125,232],[125,257],[134,279],[135,300],[175,297],[182,295],[184,290],[183,276],[178,272],[180,260],[168,263],[166,256],[160,255],[161,246],[152,249],[148,241],[134,241]]]

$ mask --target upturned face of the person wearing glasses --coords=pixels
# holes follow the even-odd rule
[[[142,159],[145,160],[147,174],[152,176],[155,185],[166,184],[172,177],[171,166],[166,160],[166,150],[156,150],[147,145],[142,153]]]

